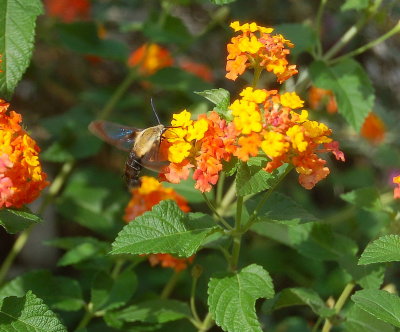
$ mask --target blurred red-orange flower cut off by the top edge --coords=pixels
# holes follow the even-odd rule
[[[48,14],[59,18],[64,23],[86,20],[90,14],[88,0],[45,0]]]

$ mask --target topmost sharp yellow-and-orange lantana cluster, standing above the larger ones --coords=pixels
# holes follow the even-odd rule
[[[289,65],[287,56],[293,47],[290,40],[282,35],[272,35],[274,29],[265,28],[256,23],[240,25],[231,23],[231,28],[240,35],[232,37],[227,45],[226,78],[236,80],[246,68],[265,69],[277,76],[282,83],[297,74],[296,65]]]

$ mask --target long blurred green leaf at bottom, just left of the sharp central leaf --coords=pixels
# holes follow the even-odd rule
[[[166,323],[191,317],[190,309],[184,302],[176,300],[149,300],[119,311],[107,312],[104,319],[115,328],[124,323]]]

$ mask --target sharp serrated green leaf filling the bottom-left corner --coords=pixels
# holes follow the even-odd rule
[[[2,332],[67,332],[56,314],[31,291],[23,297],[7,297],[0,301]]]

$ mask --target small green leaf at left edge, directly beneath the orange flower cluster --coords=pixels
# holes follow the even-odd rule
[[[33,214],[28,208],[0,210],[0,225],[7,233],[15,234],[40,222],[42,218]]]

